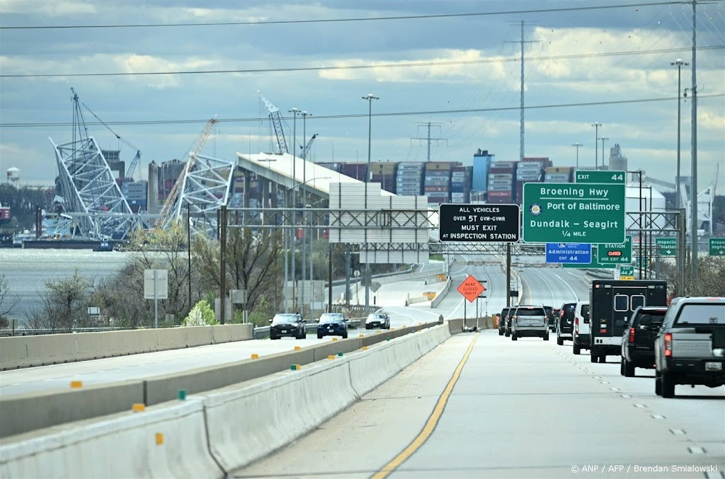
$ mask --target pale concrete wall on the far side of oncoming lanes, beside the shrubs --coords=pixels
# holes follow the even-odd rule
[[[18,369],[252,339],[253,325],[197,326],[0,338],[0,368]]]

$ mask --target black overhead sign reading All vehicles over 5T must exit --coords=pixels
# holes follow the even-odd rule
[[[441,204],[439,241],[515,243],[518,241],[518,204]]]

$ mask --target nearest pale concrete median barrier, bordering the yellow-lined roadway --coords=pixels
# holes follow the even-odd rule
[[[223,478],[349,407],[450,338],[449,327],[408,333],[368,351],[278,372],[184,402],[6,438],[0,440],[0,475]],[[280,407],[305,414],[289,415],[281,422]]]

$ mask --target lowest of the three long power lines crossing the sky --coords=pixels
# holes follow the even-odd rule
[[[698,94],[698,99],[705,98],[722,98],[725,97],[725,93],[708,93]],[[545,104],[545,105],[529,105],[524,108],[526,109],[550,109],[550,108],[571,108],[571,107],[593,107],[602,105],[619,105],[619,104],[636,104],[636,103],[654,103],[657,101],[674,101],[677,100],[676,96],[667,96],[660,98],[645,98],[645,99],[631,99],[631,100],[611,100],[611,101],[587,101],[584,103],[558,103],[558,104]],[[496,107],[496,108],[471,108],[471,109],[446,109],[446,110],[431,110],[421,112],[388,112],[388,113],[373,113],[373,117],[405,117],[413,115],[429,115],[429,114],[456,114],[456,113],[485,113],[485,112],[505,112],[505,111],[518,111],[521,109],[520,106],[516,107]],[[312,117],[310,120],[341,120],[347,118],[362,118],[368,117],[368,114],[328,114],[318,115]],[[227,118],[217,119],[219,123],[241,123],[241,122],[257,122],[267,120],[266,117],[254,117],[254,118]],[[117,121],[117,122],[105,122],[106,125],[180,125],[186,123],[206,123],[208,119],[202,120],[138,120],[138,121]],[[0,123],[0,128],[50,128],[50,127],[66,127],[72,125],[72,122],[43,122],[43,123]],[[101,125],[99,122],[86,122],[86,125]]]

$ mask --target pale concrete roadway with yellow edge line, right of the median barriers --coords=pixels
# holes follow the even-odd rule
[[[463,333],[232,476],[723,477],[725,388],[676,394],[553,341]]]

